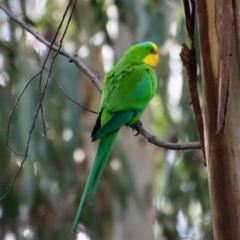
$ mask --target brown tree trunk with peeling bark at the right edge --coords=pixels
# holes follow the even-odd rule
[[[205,150],[214,238],[240,239],[240,72],[233,27],[225,133],[217,133],[224,1],[196,0],[203,76]],[[229,36],[231,37],[231,36]]]

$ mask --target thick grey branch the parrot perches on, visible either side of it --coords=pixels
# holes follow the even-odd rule
[[[94,74],[81,60],[77,55],[70,54],[66,52],[64,49],[59,49],[59,47],[52,45],[48,42],[45,38],[41,36],[34,28],[26,24],[24,21],[19,19],[14,13],[12,13],[8,8],[6,8],[3,4],[0,3],[0,8],[15,22],[17,22],[21,27],[23,27],[26,31],[31,33],[36,39],[40,42],[45,44],[47,47],[50,47],[52,50],[60,53],[61,55],[67,57],[69,62],[74,62],[74,64],[80,68],[92,81],[95,87],[101,92],[102,84],[100,83],[98,76]],[[150,143],[165,148],[165,149],[172,149],[172,150],[194,150],[200,149],[200,144],[198,142],[190,142],[190,143],[170,143],[163,141],[149,132],[147,132],[141,124],[135,124],[134,129],[139,132],[143,137],[145,137]]]

